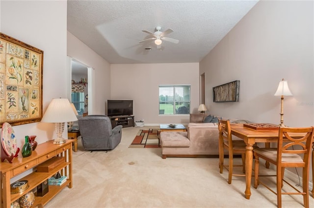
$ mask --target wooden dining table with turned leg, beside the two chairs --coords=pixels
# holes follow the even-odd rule
[[[231,134],[243,139],[246,143],[246,153],[245,153],[245,198],[250,199],[251,197],[251,179],[252,179],[252,166],[253,166],[253,145],[255,143],[263,142],[266,147],[269,147],[271,142],[278,142],[279,128],[278,129],[267,129],[256,130],[249,128],[240,123],[230,123]],[[304,134],[291,134],[292,137],[300,138]],[[284,139],[285,140],[285,139]],[[314,148],[314,146],[313,146]],[[314,166],[314,153],[312,151],[312,172]],[[267,165],[266,165],[267,167]],[[314,172],[313,172],[314,179]],[[312,189],[312,196],[314,194],[314,188]]]

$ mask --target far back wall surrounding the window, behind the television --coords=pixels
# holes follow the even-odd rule
[[[159,114],[159,85],[191,85],[191,112],[199,106],[199,63],[112,64],[111,99],[133,100],[135,121],[188,123],[189,116]]]

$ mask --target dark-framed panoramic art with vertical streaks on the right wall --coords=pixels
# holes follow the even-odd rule
[[[238,102],[240,80],[212,88],[213,102]]]

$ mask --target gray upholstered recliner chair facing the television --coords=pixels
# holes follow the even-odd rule
[[[78,119],[79,132],[85,150],[112,150],[120,142],[122,125],[112,129],[105,115],[89,115]]]

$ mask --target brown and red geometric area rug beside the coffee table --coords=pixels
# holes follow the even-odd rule
[[[160,129],[139,130],[129,148],[159,148]]]

